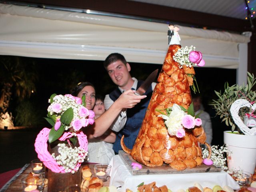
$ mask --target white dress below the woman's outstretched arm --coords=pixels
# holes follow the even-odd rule
[[[86,162],[109,164],[114,154],[112,143],[100,139],[88,140],[88,160]]]

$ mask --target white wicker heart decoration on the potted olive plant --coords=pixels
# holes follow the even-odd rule
[[[250,104],[249,101],[245,99],[238,99],[236,100],[230,107],[230,113],[231,116],[235,122],[235,124],[240,128],[240,130],[245,134],[245,135],[252,135],[256,136],[256,127],[253,128],[248,128],[244,122],[241,120],[240,116],[238,115],[239,109],[241,107],[249,107],[252,108],[252,105]]]

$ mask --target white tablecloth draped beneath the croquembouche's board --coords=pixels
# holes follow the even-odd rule
[[[110,161],[112,170],[110,173],[110,186],[122,186],[118,189],[119,192],[125,192],[126,188],[137,191],[140,183],[149,184],[156,182],[156,186],[166,185],[170,190],[176,192],[179,189],[186,190],[188,187],[194,186],[198,182],[202,187],[213,188],[215,185],[230,186],[233,189],[238,189],[239,185],[226,172],[214,173],[188,173],[188,174],[157,174],[157,175],[132,175],[126,168],[122,159],[115,155]]]

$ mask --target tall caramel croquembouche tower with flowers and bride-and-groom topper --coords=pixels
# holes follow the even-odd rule
[[[193,46],[181,48],[179,28],[170,25],[169,29],[168,52],[136,142],[132,150],[126,148],[123,140],[121,145],[134,160],[146,166],[168,164],[184,170],[203,162],[199,143],[206,144],[206,134],[200,119],[188,113],[195,74],[192,63],[203,66],[204,60],[201,52],[190,50]],[[191,116],[194,122],[190,119],[183,122],[184,116]]]

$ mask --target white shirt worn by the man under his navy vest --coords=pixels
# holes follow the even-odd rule
[[[134,78],[134,77],[132,79],[134,80],[134,83],[133,83],[131,89],[134,88],[134,90],[136,90],[137,84],[138,84],[138,80],[136,78]],[[151,84],[151,86],[152,86],[152,90],[154,90],[154,88],[156,86],[156,83],[153,82]],[[121,93],[124,91],[120,87],[118,87],[118,88],[121,91]],[[114,103],[114,101],[109,97],[109,94],[106,95],[105,99],[104,99],[104,105],[105,105],[106,110],[108,110],[113,103]],[[127,120],[127,116],[126,116],[126,110],[125,110],[125,111],[122,111],[118,115],[116,120],[113,122],[112,126],[110,126],[110,129],[112,129],[115,132],[119,132],[122,128],[124,128],[126,120]]]

